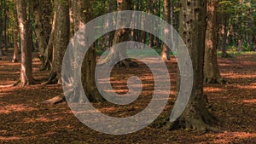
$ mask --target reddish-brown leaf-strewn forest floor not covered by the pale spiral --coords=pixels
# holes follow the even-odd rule
[[[11,54],[0,60],[0,85],[14,84],[20,77],[20,63],[11,63]],[[60,85],[32,85],[0,88],[0,143],[256,143],[256,55],[219,58],[220,72],[229,84],[205,84],[204,92],[221,132],[163,130],[146,127],[128,135],[107,135],[82,124],[66,102],[54,106],[41,102],[60,95]],[[171,113],[175,99],[177,63],[166,64],[170,71],[172,91],[163,113]],[[33,59],[33,77],[45,81],[49,72],[39,71],[40,62]],[[101,112],[115,117],[133,115],[148,105],[154,81],[148,67],[117,68],[112,74],[113,89],[127,91],[125,78],[133,74],[143,79],[145,89],[131,105],[119,107],[108,102],[94,104]],[[148,73],[149,72],[149,73]],[[129,73],[129,74],[128,74]],[[116,84],[115,84],[116,83]],[[117,85],[119,84],[119,85]],[[144,87],[143,87],[144,88]]]

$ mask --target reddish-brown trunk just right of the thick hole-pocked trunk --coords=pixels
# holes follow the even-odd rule
[[[207,0],[207,32],[204,65],[204,82],[224,84],[217,61],[217,4],[218,0]]]

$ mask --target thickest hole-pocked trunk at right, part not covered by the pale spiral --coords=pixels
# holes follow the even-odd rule
[[[181,0],[180,35],[189,49],[194,78],[189,103],[182,116],[171,126],[184,127],[186,130],[213,130],[209,125],[214,119],[207,111],[203,96],[203,63],[205,52],[207,0]],[[179,84],[179,83],[178,83]],[[178,85],[179,87],[179,85]],[[170,125],[169,125],[170,126]]]

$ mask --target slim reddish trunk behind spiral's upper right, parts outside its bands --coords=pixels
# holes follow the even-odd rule
[[[169,24],[171,23],[171,3],[170,0],[164,0],[164,20],[166,20],[166,22],[168,22]],[[169,51],[170,49],[168,49],[166,43],[163,43],[162,46],[162,60],[164,61],[168,61],[171,60],[170,59],[170,55],[169,55]]]

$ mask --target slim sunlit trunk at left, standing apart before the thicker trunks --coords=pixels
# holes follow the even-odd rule
[[[29,35],[29,21],[26,15],[26,1],[16,1],[17,16],[20,27],[20,47],[21,47],[21,68],[20,83],[22,86],[26,84],[34,84],[32,78],[32,48]]]

